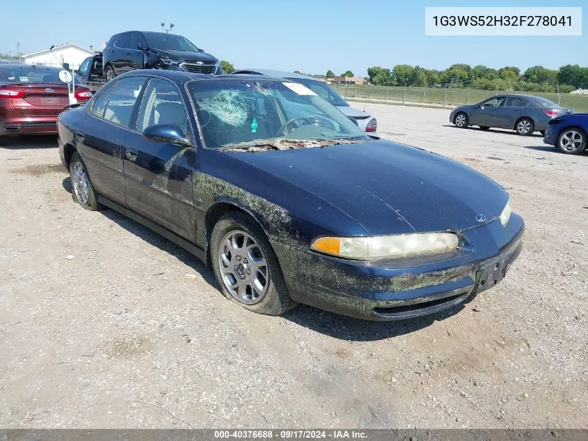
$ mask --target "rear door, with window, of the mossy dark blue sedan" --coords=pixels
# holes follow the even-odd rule
[[[125,205],[122,149],[145,77],[122,78],[100,90],[74,139],[98,193]]]

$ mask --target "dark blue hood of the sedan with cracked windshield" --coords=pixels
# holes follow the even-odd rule
[[[459,162],[385,140],[225,154],[283,179],[290,194],[318,196],[372,235],[469,229],[498,217],[508,200]]]

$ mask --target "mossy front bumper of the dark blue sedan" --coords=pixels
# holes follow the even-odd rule
[[[472,247],[411,261],[358,262],[274,243],[296,302],[367,320],[402,320],[454,307],[498,284],[521,253],[523,219],[464,231]],[[437,257],[438,258],[438,257]]]

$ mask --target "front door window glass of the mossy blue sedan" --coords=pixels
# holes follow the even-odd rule
[[[143,95],[137,118],[137,130],[155,124],[175,124],[186,134],[188,114],[177,87],[164,79],[154,78]]]

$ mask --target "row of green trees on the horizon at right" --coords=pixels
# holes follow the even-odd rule
[[[577,88],[588,88],[588,68],[579,65],[564,65],[558,70],[537,65],[525,72],[516,67],[500,69],[468,64],[454,64],[446,70],[425,69],[408,64],[395,65],[394,68],[372,66],[367,68],[370,82],[377,86],[417,86],[477,88],[501,91],[555,92],[569,93]]]

